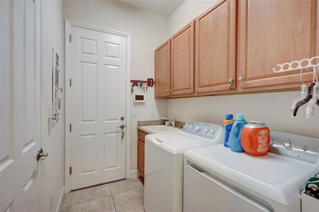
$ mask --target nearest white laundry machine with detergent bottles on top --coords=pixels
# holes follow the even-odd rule
[[[184,212],[301,212],[301,192],[319,171],[319,139],[271,131],[255,157],[223,145],[184,156]]]

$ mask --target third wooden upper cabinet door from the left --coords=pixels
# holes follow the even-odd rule
[[[236,2],[219,0],[195,21],[195,93],[229,90],[235,78]]]

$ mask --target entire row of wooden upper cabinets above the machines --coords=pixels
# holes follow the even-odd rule
[[[273,68],[319,56],[319,1],[217,0],[155,54],[156,97],[300,88],[300,70]]]

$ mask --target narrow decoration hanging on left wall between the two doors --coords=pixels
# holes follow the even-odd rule
[[[49,130],[56,125],[59,121],[60,109],[61,109],[61,98],[59,93],[62,93],[60,88],[59,76],[59,56],[53,48],[53,61],[52,61],[52,114],[49,116]]]

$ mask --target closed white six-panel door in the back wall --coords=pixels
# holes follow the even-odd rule
[[[72,26],[70,189],[126,178],[126,37]]]

